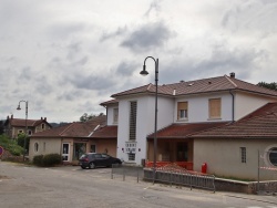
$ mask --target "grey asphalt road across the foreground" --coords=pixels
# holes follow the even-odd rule
[[[111,168],[39,168],[0,162],[0,208],[277,208],[277,197],[176,188]]]

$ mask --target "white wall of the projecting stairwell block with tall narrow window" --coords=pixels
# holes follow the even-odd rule
[[[130,102],[137,102],[136,117],[136,155],[135,163],[141,164],[146,159],[146,136],[154,132],[155,124],[155,96],[135,96],[120,100],[119,104],[119,133],[117,133],[117,157],[129,160],[127,154],[122,150],[125,142],[129,142]],[[158,97],[157,100],[157,129],[173,123],[174,100]],[[138,150],[140,149],[140,150]]]

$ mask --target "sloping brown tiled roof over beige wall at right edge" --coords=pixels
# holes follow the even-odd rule
[[[277,138],[277,103],[268,103],[235,123],[193,137]]]

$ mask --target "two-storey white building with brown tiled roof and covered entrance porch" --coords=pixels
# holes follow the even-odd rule
[[[113,101],[101,105],[106,107],[107,125],[117,125],[117,157],[135,165],[153,162],[155,85],[127,90],[112,97]],[[269,102],[277,102],[276,91],[238,80],[235,73],[158,85],[157,164],[183,163],[188,169],[201,170],[207,155],[215,149],[198,145],[197,134],[240,121]],[[216,145],[211,138],[213,144]],[[233,152],[226,158],[234,154],[239,155]]]

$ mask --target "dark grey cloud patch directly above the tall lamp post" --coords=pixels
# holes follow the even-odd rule
[[[132,32],[121,45],[133,52],[145,52],[163,46],[172,35],[173,32],[163,22],[148,23]]]

